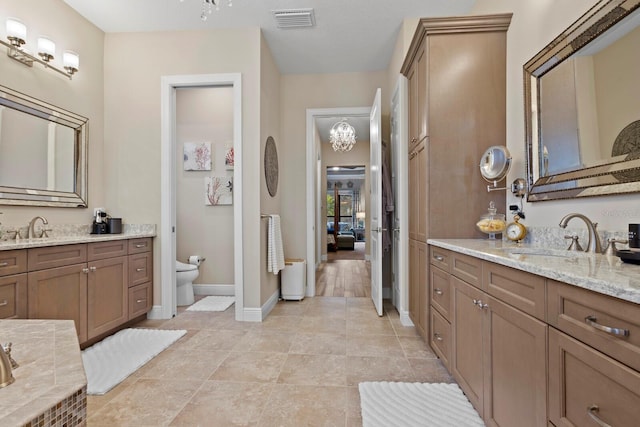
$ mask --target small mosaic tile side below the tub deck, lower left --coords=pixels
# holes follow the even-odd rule
[[[23,427],[75,427],[87,425],[87,387],[33,418]]]

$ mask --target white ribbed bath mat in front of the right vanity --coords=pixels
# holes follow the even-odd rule
[[[363,427],[479,427],[484,422],[457,384],[365,382]]]

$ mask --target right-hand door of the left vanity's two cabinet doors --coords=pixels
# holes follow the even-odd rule
[[[127,273],[126,256],[89,263],[87,284],[88,339],[108,332],[128,320]]]

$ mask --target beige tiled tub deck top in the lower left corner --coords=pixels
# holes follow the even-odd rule
[[[73,320],[0,320],[20,365],[0,388],[0,424],[24,425],[87,385]]]

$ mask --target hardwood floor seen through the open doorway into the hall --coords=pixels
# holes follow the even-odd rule
[[[316,296],[370,297],[371,264],[349,259],[323,262],[316,271]]]

